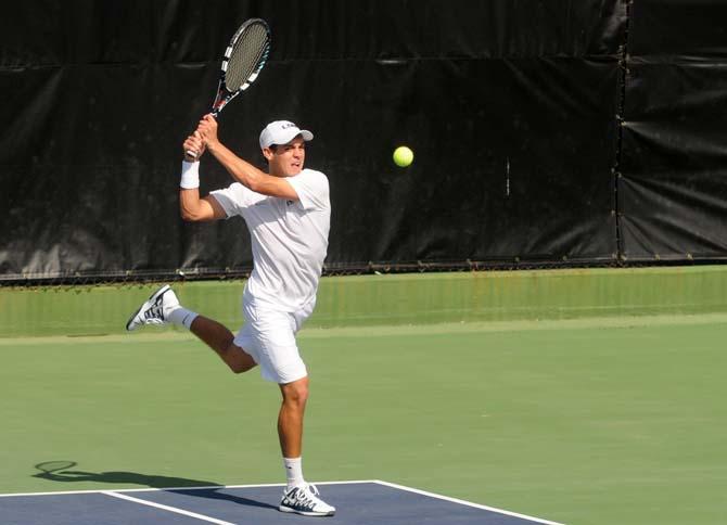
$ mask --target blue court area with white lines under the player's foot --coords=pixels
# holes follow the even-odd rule
[[[341,525],[556,524],[381,481],[319,484]],[[282,485],[82,490],[0,496],[5,525],[278,524],[315,518],[278,511]],[[558,525],[558,524],[556,524]]]

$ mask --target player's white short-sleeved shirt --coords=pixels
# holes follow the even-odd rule
[[[298,201],[256,193],[239,182],[211,195],[229,217],[245,219],[253,247],[253,272],[244,299],[276,310],[298,311],[316,298],[328,251],[331,202],[328,178],[304,169],[286,179]]]

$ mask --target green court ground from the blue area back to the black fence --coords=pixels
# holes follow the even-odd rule
[[[301,334],[311,371],[307,476],[385,479],[569,524],[724,523],[726,272],[603,272],[488,274],[500,281],[485,284],[480,274],[324,280],[320,315]],[[226,286],[181,293],[233,317],[240,283]],[[498,286],[510,303],[487,318],[496,298],[477,294]],[[544,293],[553,286],[570,296]],[[18,315],[8,306],[23,294],[49,310],[26,297],[36,320],[0,338],[0,492],[279,482],[279,394],[256,371],[229,373],[181,332],[29,336],[34,322],[64,319],[76,297],[112,292],[3,291],[3,316]],[[118,315],[146,292],[115,290]],[[599,293],[612,315],[592,315]],[[426,311],[409,304],[411,316],[397,318],[418,294]],[[519,297],[533,309],[523,313]],[[557,308],[565,300],[570,309]],[[435,322],[433,304],[446,322]],[[112,326],[116,313],[104,308]],[[34,465],[56,460],[85,475],[37,476]]]

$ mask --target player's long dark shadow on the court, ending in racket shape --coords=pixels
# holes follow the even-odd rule
[[[232,503],[246,507],[278,509],[277,507],[265,503],[263,501],[256,501],[231,494],[219,492],[218,490],[225,487],[216,482],[191,479],[188,477],[141,474],[138,472],[125,471],[88,472],[69,470],[74,466],[76,466],[75,461],[46,461],[35,465],[35,468],[40,472],[33,474],[33,477],[59,483],[91,482],[107,483],[110,485],[140,485],[143,487],[163,489],[168,492],[184,494],[195,498],[230,501]],[[200,487],[208,488],[200,489]],[[195,488],[195,490],[189,490],[191,488]]]

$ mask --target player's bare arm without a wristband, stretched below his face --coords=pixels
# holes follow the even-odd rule
[[[288,201],[298,200],[297,192],[285,179],[273,177],[257,169],[222,144],[217,138],[217,120],[215,117],[205,115],[200,121],[197,130],[204,139],[207,151],[212,153],[214,157],[225,166],[225,169],[229,171],[232,178],[242,185],[264,195],[285,199]]]

